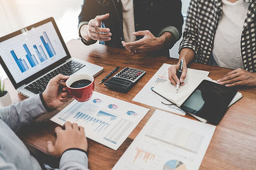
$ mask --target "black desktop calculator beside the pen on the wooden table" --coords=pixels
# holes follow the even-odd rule
[[[104,83],[109,89],[117,92],[127,93],[132,87],[138,83],[141,77],[146,73],[141,69],[125,67],[119,73]]]

